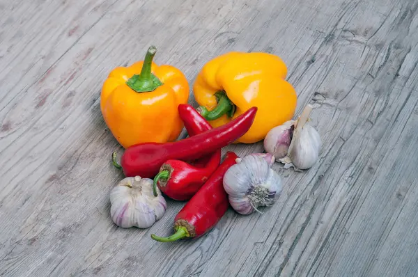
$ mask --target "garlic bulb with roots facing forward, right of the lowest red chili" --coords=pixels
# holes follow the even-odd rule
[[[279,198],[281,177],[265,159],[248,155],[237,161],[224,175],[229,203],[240,214],[251,214],[260,206],[269,206]]]

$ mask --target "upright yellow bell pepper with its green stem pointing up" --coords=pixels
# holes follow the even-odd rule
[[[189,84],[177,68],[156,65],[156,51],[151,46],[144,61],[115,68],[102,86],[104,122],[123,148],[175,141],[183,129],[178,104],[189,100]]]

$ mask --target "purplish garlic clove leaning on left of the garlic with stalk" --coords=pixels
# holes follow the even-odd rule
[[[286,157],[293,136],[295,120],[288,120],[272,128],[264,138],[264,149],[278,160]]]

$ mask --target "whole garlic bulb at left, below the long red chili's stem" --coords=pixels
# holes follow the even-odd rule
[[[110,193],[110,215],[122,228],[148,228],[162,218],[167,203],[157,188],[153,195],[153,180],[139,176],[126,177]]]

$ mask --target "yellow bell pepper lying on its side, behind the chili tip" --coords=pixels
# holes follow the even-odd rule
[[[285,81],[287,68],[278,56],[261,52],[229,52],[208,61],[193,90],[198,111],[219,127],[251,106],[258,111],[251,129],[235,143],[255,143],[273,127],[291,120],[297,95]]]

